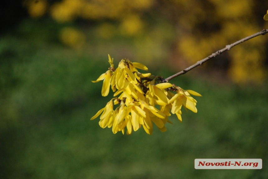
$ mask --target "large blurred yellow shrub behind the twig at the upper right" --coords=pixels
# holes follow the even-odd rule
[[[264,28],[258,24],[261,19],[256,16],[255,1],[206,0],[197,3],[194,0],[187,2],[171,0],[170,2],[170,6],[175,10],[182,10],[176,12],[178,16],[175,16],[178,17],[177,25],[183,26],[181,37],[177,41],[177,50],[189,64]],[[264,16],[264,19],[268,20],[268,14]],[[228,61],[226,59],[228,66],[222,66],[227,68],[227,75],[233,82],[246,84],[265,81],[267,75],[267,70],[264,68],[266,41],[265,38],[256,38],[241,45],[242,50],[228,52]],[[251,55],[255,52],[259,55]]]

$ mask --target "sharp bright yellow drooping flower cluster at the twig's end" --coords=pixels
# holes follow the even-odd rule
[[[93,120],[100,115],[100,127],[112,127],[114,134],[118,131],[124,134],[127,127],[127,134],[132,134],[133,130],[136,131],[142,126],[147,134],[152,134],[154,123],[160,131],[165,132],[165,124],[172,124],[168,120],[170,112],[176,114],[180,121],[182,106],[197,112],[197,101],[191,95],[201,96],[199,93],[163,82],[162,77],[153,76],[151,73],[140,73],[137,68],[148,68],[128,59],[122,59],[115,69],[113,59],[110,55],[108,57],[108,71],[96,81],[92,81],[103,80],[102,96],[108,95],[110,87],[115,92],[114,98],[91,118]],[[119,106],[114,110],[114,105]]]

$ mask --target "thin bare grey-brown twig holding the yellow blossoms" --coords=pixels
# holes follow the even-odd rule
[[[169,80],[171,80],[171,79],[173,79],[173,78],[175,78],[175,77],[177,77],[177,76],[179,76],[179,75],[182,75],[182,74],[184,74],[184,73],[189,72],[191,69],[193,69],[193,68],[195,68],[195,67],[197,67],[197,66],[199,66],[199,65],[202,65],[203,63],[205,63],[205,62],[208,61],[209,59],[212,59],[212,58],[214,58],[214,57],[217,57],[218,55],[222,54],[222,53],[225,52],[226,50],[230,50],[232,47],[234,47],[234,46],[236,46],[236,45],[238,45],[238,44],[241,44],[242,42],[245,42],[246,40],[252,39],[252,38],[254,38],[254,37],[256,37],[256,36],[259,36],[259,35],[265,35],[265,34],[267,34],[267,33],[268,33],[268,29],[263,29],[262,31],[260,31],[260,32],[258,32],[258,33],[256,33],[256,34],[250,35],[250,36],[248,36],[248,37],[246,37],[246,38],[244,38],[244,39],[238,40],[237,42],[235,42],[235,43],[233,43],[233,44],[226,45],[225,48],[223,48],[223,49],[221,49],[221,50],[218,50],[217,52],[215,52],[215,53],[209,55],[207,58],[205,58],[205,59],[203,59],[203,60],[200,60],[200,61],[196,62],[194,65],[192,65],[192,66],[190,66],[190,67],[188,67],[188,68],[186,68],[186,69],[180,71],[179,73],[176,73],[176,74],[174,74],[174,75],[172,75],[172,76],[170,76],[170,77],[168,77],[168,78],[165,78],[162,82],[168,82]]]

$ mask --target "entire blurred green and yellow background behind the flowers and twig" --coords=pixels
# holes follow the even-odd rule
[[[168,77],[268,28],[267,1],[5,1],[0,30],[0,178],[268,178],[267,35],[171,83],[199,92],[165,133],[112,134],[90,118],[92,83],[122,58]],[[195,158],[261,158],[261,170],[196,170]]]

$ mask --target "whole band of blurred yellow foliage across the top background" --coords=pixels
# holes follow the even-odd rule
[[[93,26],[101,38],[134,36],[135,59],[159,62],[169,55],[169,63],[181,69],[268,27],[262,18],[268,6],[264,0],[26,0],[25,6],[33,18],[49,14],[60,23],[97,22]],[[77,47],[86,36],[69,28],[62,29],[60,38]],[[218,66],[234,82],[261,83],[266,78],[266,42],[267,37],[259,37],[239,45]]]

